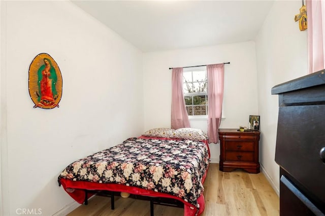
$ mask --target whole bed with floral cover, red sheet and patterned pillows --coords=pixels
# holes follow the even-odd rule
[[[58,176],[58,184],[80,204],[96,191],[126,192],[177,200],[184,215],[200,215],[209,161],[202,130],[154,128],[71,163]]]

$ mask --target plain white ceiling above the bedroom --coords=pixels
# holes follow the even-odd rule
[[[254,40],[272,1],[72,1],[143,52]]]

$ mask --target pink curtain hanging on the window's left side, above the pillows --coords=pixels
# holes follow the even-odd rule
[[[183,68],[172,70],[172,128],[190,127],[183,94]]]

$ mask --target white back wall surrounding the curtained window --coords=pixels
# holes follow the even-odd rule
[[[224,116],[221,128],[248,126],[249,115],[257,115],[255,43],[245,42],[144,54],[144,127],[170,127],[171,83],[169,67],[221,62],[225,64]],[[207,121],[191,121],[191,127],[207,131]],[[219,144],[210,144],[211,160],[219,162]]]

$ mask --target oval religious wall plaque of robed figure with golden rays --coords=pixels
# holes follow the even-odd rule
[[[54,59],[47,53],[38,54],[28,70],[28,91],[34,108],[59,107],[62,96],[62,75]]]

